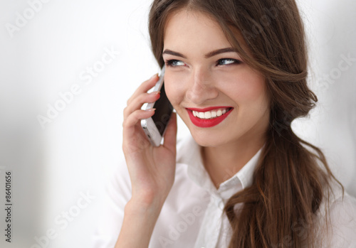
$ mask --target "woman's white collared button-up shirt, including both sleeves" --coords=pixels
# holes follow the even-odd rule
[[[231,175],[226,171],[227,180],[216,189],[202,163],[200,146],[191,136],[180,141],[174,185],[159,214],[149,247],[227,247],[231,230],[223,212],[224,204],[234,193],[251,185],[260,153],[261,149],[238,173]],[[131,198],[125,163],[113,175],[107,193],[93,248],[114,247],[120,234],[124,207]],[[333,235],[329,236],[331,243],[323,247],[356,247],[356,200],[346,193],[343,201],[341,197],[337,191],[330,207]]]

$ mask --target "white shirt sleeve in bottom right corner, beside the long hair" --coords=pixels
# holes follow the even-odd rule
[[[335,248],[356,247],[356,199],[345,193],[330,205],[331,245]]]

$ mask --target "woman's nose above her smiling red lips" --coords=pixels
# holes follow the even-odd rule
[[[192,72],[189,79],[189,87],[186,97],[194,104],[203,104],[204,102],[214,99],[219,95],[214,85],[211,75],[203,69],[196,69]]]

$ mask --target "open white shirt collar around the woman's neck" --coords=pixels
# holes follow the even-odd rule
[[[188,176],[194,183],[197,183],[201,188],[211,193],[219,195],[221,198],[227,199],[253,183],[253,171],[257,165],[258,158],[261,156],[262,148],[257,151],[238,173],[221,183],[218,190],[216,190],[209,174],[204,168],[200,152],[201,147],[194,141],[191,135],[179,142],[177,146],[177,163],[187,164]]]

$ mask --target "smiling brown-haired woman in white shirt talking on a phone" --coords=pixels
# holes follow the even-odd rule
[[[295,1],[153,2],[152,50],[192,139],[176,145],[173,114],[150,146],[140,119],[155,110],[140,107],[159,99],[146,93],[157,75],[144,82],[124,111],[128,173],[109,189],[100,247],[117,235],[117,248],[355,245],[355,199],[290,127],[317,102],[304,36]]]

